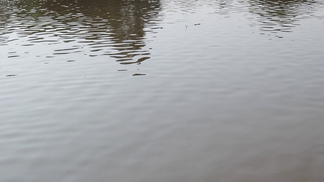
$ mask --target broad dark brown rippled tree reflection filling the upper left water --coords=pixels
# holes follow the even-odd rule
[[[0,6],[7,12],[1,16],[0,36],[6,40],[0,42],[2,45],[10,41],[10,37],[3,36],[15,32],[17,37],[32,36],[26,41],[33,44],[24,44],[36,47],[45,42],[52,45],[75,41],[54,50],[55,56],[77,52],[109,55],[121,64],[140,64],[150,58],[145,35],[154,32],[159,21],[159,0],[4,2]]]

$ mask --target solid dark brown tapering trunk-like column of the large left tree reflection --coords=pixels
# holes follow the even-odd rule
[[[85,12],[88,17],[100,17],[108,20],[110,28],[110,36],[113,37],[114,44],[121,44],[116,53],[106,53],[111,57],[117,58],[121,64],[140,64],[142,61],[149,59],[144,57],[135,62],[124,62],[133,60],[138,55],[148,55],[143,50],[145,42],[145,24],[153,17],[157,16],[159,9],[158,0],[128,0],[121,3],[120,0],[111,0],[107,5],[102,5],[101,1],[91,2],[81,0],[81,11]],[[84,10],[83,10],[84,9]],[[98,9],[100,10],[98,14]],[[95,10],[95,11],[93,11]],[[125,42],[127,44],[125,44]]]

